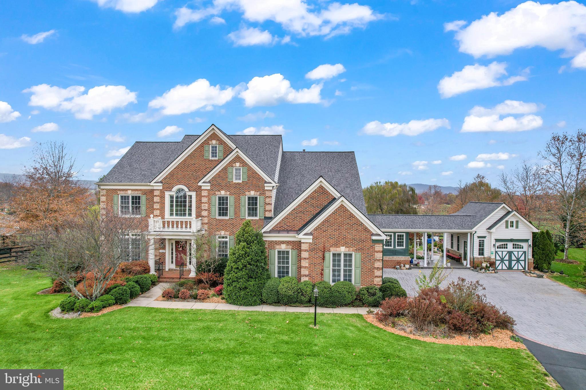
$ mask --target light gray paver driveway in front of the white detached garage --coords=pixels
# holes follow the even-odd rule
[[[407,294],[413,296],[419,271],[431,272],[385,269],[383,276],[397,278]],[[444,284],[458,277],[479,280],[486,288],[483,292],[488,301],[513,316],[517,333],[547,346],[586,354],[586,295],[550,279],[530,278],[518,271],[479,274],[454,269]]]

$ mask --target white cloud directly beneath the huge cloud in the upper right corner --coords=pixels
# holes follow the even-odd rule
[[[438,91],[442,98],[451,98],[474,89],[511,85],[517,81],[527,80],[528,68],[523,71],[522,75],[503,79],[502,77],[507,75],[506,67],[506,63],[496,61],[488,66],[479,64],[466,65],[461,71],[442,78],[438,84]]]

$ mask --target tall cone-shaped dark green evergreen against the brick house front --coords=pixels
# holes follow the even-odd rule
[[[224,271],[226,302],[240,306],[260,305],[268,278],[263,233],[254,230],[250,220],[245,220],[234,236],[234,247],[230,249]]]

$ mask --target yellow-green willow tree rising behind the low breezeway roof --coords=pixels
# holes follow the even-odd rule
[[[376,181],[362,191],[369,214],[417,214],[417,194],[407,184]]]

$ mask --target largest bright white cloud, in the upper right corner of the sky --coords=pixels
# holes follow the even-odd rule
[[[581,67],[583,59],[586,67],[586,6],[575,1],[559,4],[526,1],[500,16],[491,12],[464,29],[459,27],[455,29],[459,50],[476,58],[541,46],[563,50],[566,57],[581,53],[574,57],[572,66]]]

